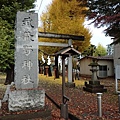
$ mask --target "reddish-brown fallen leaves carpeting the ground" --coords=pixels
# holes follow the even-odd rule
[[[118,95],[115,93],[114,79],[101,79],[100,81],[107,88],[107,92],[102,94],[102,117],[98,116],[97,95],[83,91],[83,85],[75,88],[65,88],[65,94],[70,99],[67,102],[69,113],[75,115],[80,120],[120,119]],[[62,86],[59,82],[61,83],[61,81],[60,79],[55,79],[53,82],[49,82],[49,77],[46,77],[46,80],[40,78],[39,87],[45,89],[46,93],[60,105],[62,103]],[[52,120],[62,120],[60,118],[60,110],[49,99],[46,98],[45,104],[51,110]],[[11,113],[8,112],[7,108],[4,108],[0,111],[0,114],[7,115]],[[14,114],[21,113],[16,112]]]

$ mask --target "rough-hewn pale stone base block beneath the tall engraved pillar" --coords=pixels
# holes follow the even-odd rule
[[[45,91],[42,89],[10,90],[9,111],[41,109],[45,106]]]

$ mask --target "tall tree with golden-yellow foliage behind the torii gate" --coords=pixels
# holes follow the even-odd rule
[[[73,46],[80,52],[90,44],[91,33],[84,27],[86,7],[80,6],[82,2],[77,0],[53,0],[48,11],[41,16],[42,26],[40,31],[81,35],[84,41],[73,41]],[[39,39],[40,41],[68,43],[66,40]],[[59,51],[58,47],[42,47],[43,51],[53,54]]]

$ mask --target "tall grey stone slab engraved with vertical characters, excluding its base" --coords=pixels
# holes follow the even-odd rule
[[[38,87],[38,18],[35,13],[17,13],[15,86]]]

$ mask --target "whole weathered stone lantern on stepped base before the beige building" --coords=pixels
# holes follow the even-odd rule
[[[100,81],[97,78],[97,67],[99,66],[97,60],[93,59],[93,62],[90,63],[89,66],[91,66],[90,71],[92,72],[92,76],[91,80],[89,80],[89,83],[85,82],[85,87],[83,87],[83,90],[91,93],[106,92],[107,89],[100,84]]]

